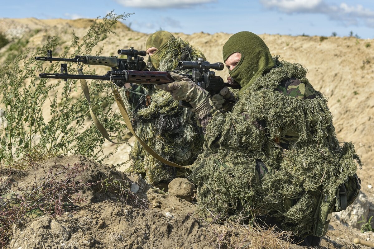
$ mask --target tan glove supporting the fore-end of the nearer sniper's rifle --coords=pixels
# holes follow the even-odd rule
[[[208,92],[198,85],[194,84],[188,77],[170,73],[175,80],[172,83],[155,85],[154,88],[162,89],[169,92],[175,100],[186,100],[192,106],[191,111],[197,118],[207,115],[212,107],[209,104]]]

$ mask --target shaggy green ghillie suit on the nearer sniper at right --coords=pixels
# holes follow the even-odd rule
[[[213,114],[191,178],[200,214],[244,221],[270,214],[283,230],[302,236],[312,233],[321,189],[334,198],[361,161],[352,143],[339,144],[324,95],[317,91],[315,99],[300,100],[273,90],[286,78],[307,82],[301,65],[275,59],[282,66],[257,78],[232,112]],[[265,121],[266,130],[255,121]],[[300,137],[281,149],[273,139],[289,130]],[[261,180],[256,161],[269,169]]]

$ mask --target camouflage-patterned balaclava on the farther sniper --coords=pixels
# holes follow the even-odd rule
[[[150,47],[155,47],[157,49],[157,51],[153,55],[149,56],[151,63],[156,70],[159,69],[159,66],[160,66],[160,53],[159,52],[165,47],[165,45],[168,43],[168,41],[171,38],[174,38],[174,35],[172,35],[168,31],[162,30],[162,31],[157,31],[151,34],[147,39],[147,43],[145,43],[146,50],[149,49]]]

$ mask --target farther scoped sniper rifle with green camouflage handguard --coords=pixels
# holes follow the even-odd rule
[[[138,51],[134,47],[130,49],[119,49],[119,55],[126,55],[126,59],[119,59],[118,56],[93,56],[93,55],[77,55],[74,58],[56,58],[52,57],[52,50],[47,50],[47,56],[41,57],[36,56],[36,60],[45,61],[62,61],[62,62],[77,62],[86,65],[102,65],[109,66],[114,71],[122,70],[145,70],[147,65],[144,62],[144,58],[147,53],[144,50]]]

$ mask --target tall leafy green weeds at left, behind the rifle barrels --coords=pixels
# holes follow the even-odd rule
[[[63,46],[59,37],[48,37],[46,43],[35,52],[25,48],[26,38],[18,40],[10,48],[12,56],[0,68],[0,105],[5,109],[7,126],[0,126],[0,158],[11,163],[21,158],[25,150],[40,146],[47,153],[75,153],[96,158],[102,152],[104,138],[89,120],[89,108],[80,86],[74,80],[49,81],[40,79],[37,73],[54,73],[61,62],[49,63],[34,60],[47,49],[62,50],[58,57],[91,54],[97,44],[112,33],[111,27],[117,20],[125,19],[129,14],[108,13],[102,21],[93,22],[87,34],[81,39],[73,32],[68,46]],[[64,47],[62,49],[62,47]],[[101,49],[96,53],[99,55]],[[12,53],[12,51],[17,53]],[[55,55],[57,56],[57,55]],[[68,68],[76,68],[68,63]],[[86,74],[95,74],[95,70],[86,68]],[[71,73],[71,72],[70,72]],[[123,137],[124,125],[120,122],[120,113],[111,108],[114,98],[108,82],[92,81],[90,95],[96,113],[100,113],[100,122],[115,138]],[[79,84],[79,83],[78,83]],[[77,91],[74,92],[74,91]],[[43,113],[49,106],[49,115]],[[44,114],[44,115],[43,115]],[[110,155],[106,155],[107,158]],[[103,159],[104,159],[103,158]]]

